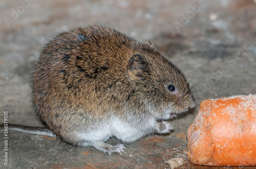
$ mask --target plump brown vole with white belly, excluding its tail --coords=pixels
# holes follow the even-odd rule
[[[32,73],[35,109],[49,132],[109,154],[125,148],[104,143],[110,137],[131,143],[168,133],[174,127],[162,120],[195,106],[183,73],[152,42],[106,26],[58,34]]]

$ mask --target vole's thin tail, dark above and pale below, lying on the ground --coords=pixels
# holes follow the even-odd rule
[[[12,131],[19,131],[29,134],[36,135],[46,135],[49,137],[56,137],[52,130],[47,129],[45,127],[33,127],[33,126],[24,126],[24,125],[16,125],[16,124],[1,124],[0,128],[5,128]]]

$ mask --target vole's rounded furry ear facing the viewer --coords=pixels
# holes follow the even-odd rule
[[[127,65],[127,77],[130,80],[139,79],[146,66],[147,63],[140,54],[133,55]]]

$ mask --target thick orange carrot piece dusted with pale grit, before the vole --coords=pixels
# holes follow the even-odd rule
[[[187,137],[194,164],[256,165],[256,95],[202,101]]]

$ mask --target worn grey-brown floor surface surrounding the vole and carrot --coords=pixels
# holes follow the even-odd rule
[[[6,151],[1,141],[0,168],[168,168],[164,158],[174,157],[185,160],[179,168],[210,168],[189,162],[186,132],[200,101],[256,93],[255,9],[252,0],[1,1],[1,123],[8,111],[9,123],[42,126],[31,105],[29,71],[50,37],[89,23],[115,27],[138,40],[150,39],[188,79],[197,71],[191,82],[196,84],[197,106],[171,122],[173,133],[125,145],[121,155],[9,131],[8,166],[3,162]],[[115,139],[108,143],[120,144]]]

